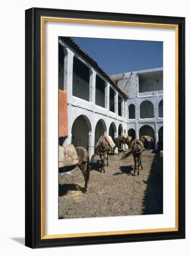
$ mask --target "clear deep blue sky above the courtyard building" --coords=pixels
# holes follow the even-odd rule
[[[163,42],[79,37],[72,39],[107,74],[163,67]]]

